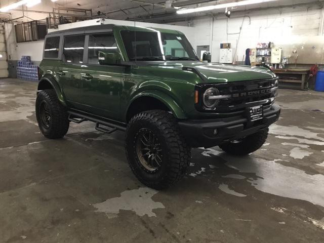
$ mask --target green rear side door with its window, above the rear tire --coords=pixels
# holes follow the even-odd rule
[[[85,35],[64,36],[62,62],[57,75],[66,101],[72,108],[81,108],[82,82],[80,72],[83,69]]]

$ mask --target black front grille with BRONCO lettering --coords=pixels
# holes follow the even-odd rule
[[[216,87],[220,95],[231,95],[230,98],[221,99],[215,109],[207,112],[243,112],[246,107],[254,105],[262,105],[263,109],[269,108],[274,100],[274,93],[269,92],[269,90],[273,88],[275,80],[276,78],[226,84],[205,84],[203,86],[206,87],[200,86],[200,89],[203,91],[209,87]],[[204,111],[206,111],[206,109],[204,109]]]

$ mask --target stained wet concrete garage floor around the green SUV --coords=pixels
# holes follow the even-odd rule
[[[39,133],[36,83],[0,79],[0,242],[323,242],[324,93],[279,90],[257,152],[193,149],[165,191],[137,181],[124,133]]]

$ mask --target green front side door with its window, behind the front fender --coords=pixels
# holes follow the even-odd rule
[[[118,53],[112,33],[89,34],[87,64],[80,73],[83,109],[104,117],[116,119],[120,113],[121,78],[125,67],[105,65],[101,55]]]

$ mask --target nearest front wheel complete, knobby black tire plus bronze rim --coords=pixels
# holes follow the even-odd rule
[[[154,189],[179,181],[190,164],[190,147],[174,116],[164,110],[136,114],[127,126],[125,149],[134,175]]]

